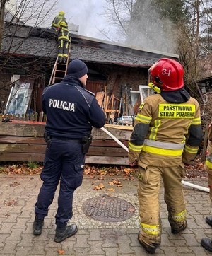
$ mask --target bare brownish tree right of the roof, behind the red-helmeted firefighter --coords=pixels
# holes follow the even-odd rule
[[[177,53],[184,66],[186,85],[200,100],[202,100],[201,93],[196,81],[204,78],[212,66],[211,43],[208,42],[208,38],[211,38],[210,30],[204,29],[205,25],[208,28],[212,26],[208,15],[212,8],[206,8],[206,2],[209,3],[207,0],[187,1],[186,8],[190,14],[190,22],[179,23],[177,41]]]

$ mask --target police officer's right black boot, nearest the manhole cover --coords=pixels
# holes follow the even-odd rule
[[[56,228],[56,233],[54,236],[54,242],[60,243],[66,238],[70,238],[72,235],[76,234],[78,231],[77,226],[72,224],[70,226],[64,226],[63,228]]]

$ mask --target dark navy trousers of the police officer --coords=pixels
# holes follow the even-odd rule
[[[73,192],[82,184],[85,155],[80,141],[51,139],[47,144],[44,168],[40,175],[43,181],[35,204],[35,214],[43,219],[60,181],[57,226],[65,226],[73,216]]]

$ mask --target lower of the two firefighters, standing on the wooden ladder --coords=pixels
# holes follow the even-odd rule
[[[60,24],[60,28],[58,30],[58,62],[66,63],[68,54],[69,54],[69,44],[71,42],[69,37],[69,29],[64,21]]]

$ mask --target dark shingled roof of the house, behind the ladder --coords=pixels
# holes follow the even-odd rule
[[[14,36],[13,36],[14,35]],[[177,59],[177,54],[147,50],[98,40],[76,34],[71,35],[71,59],[84,62],[149,67],[161,57]],[[16,56],[57,57],[57,38],[47,28],[13,25],[3,38],[2,52]]]

